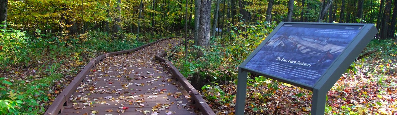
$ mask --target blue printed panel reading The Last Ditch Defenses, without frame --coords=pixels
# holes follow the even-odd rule
[[[285,24],[245,65],[314,85],[362,26]]]

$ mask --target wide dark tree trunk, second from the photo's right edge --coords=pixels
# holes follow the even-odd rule
[[[384,11],[384,16],[383,16],[383,20],[382,20],[382,29],[380,30],[381,35],[380,37],[382,39],[387,39],[390,38],[390,34],[389,32],[389,20],[390,20],[390,10],[391,10],[391,0],[386,0],[385,1],[385,11]]]

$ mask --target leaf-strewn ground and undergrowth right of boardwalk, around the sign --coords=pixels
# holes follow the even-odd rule
[[[170,60],[181,73],[192,80],[207,81],[201,85],[202,96],[218,115],[233,115],[235,110],[237,66],[272,31],[258,22],[241,25],[246,31],[231,33],[231,39],[212,37],[211,47],[203,49],[189,42],[185,61],[184,47]],[[244,37],[246,35],[246,37]],[[204,51],[201,57],[197,50]],[[362,53],[376,53],[352,63],[328,92],[327,115],[395,115],[397,113],[397,44],[393,40],[374,39]],[[249,75],[246,113],[250,115],[310,114],[312,92],[263,76]],[[191,81],[192,84],[193,81]]]

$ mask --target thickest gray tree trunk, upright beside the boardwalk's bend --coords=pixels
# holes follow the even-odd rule
[[[197,45],[207,48],[210,46],[210,21],[211,21],[211,0],[201,0],[200,24],[198,25]]]

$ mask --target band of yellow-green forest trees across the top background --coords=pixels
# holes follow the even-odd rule
[[[200,2],[2,0],[0,19],[7,20],[8,28],[26,31],[29,35],[34,35],[36,30],[58,37],[101,31],[121,38],[128,34],[138,34],[141,30],[143,33],[151,33],[152,36],[165,36],[167,33],[183,30],[185,9],[188,13],[187,28],[194,30],[195,6],[199,6],[197,1]],[[257,21],[373,23],[380,30],[378,35],[382,39],[395,38],[396,33],[395,0],[202,1],[210,1],[210,4],[205,5],[210,5],[211,8],[211,25],[215,25],[211,28],[220,28],[225,33],[231,30],[231,26],[239,24],[240,20],[245,24],[254,24]]]

